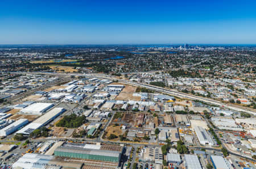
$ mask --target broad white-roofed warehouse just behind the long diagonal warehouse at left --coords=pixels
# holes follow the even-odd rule
[[[29,105],[26,108],[23,108],[21,111],[23,113],[33,113],[33,114],[41,114],[46,112],[49,108],[53,107],[52,103],[34,103]]]

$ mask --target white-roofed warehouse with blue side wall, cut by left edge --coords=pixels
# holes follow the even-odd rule
[[[5,128],[1,129],[0,137],[6,137],[26,124],[28,124],[27,119],[19,119],[15,121],[13,124],[10,124],[9,126],[6,126]]]

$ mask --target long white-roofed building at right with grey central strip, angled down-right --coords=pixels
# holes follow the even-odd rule
[[[201,145],[214,145],[214,141],[212,137],[209,136],[207,130],[205,130],[201,126],[195,126],[195,132]]]

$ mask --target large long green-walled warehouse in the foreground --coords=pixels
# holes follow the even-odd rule
[[[99,146],[93,145],[86,145],[85,147],[60,146],[55,149],[54,155],[57,157],[81,158],[119,163],[121,154],[123,153],[123,146],[119,145],[100,145],[100,149]]]

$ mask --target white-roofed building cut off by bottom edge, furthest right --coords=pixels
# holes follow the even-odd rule
[[[233,168],[229,163],[229,160],[218,156],[218,155],[211,155],[210,160],[212,160],[213,167],[215,169],[231,169]]]

